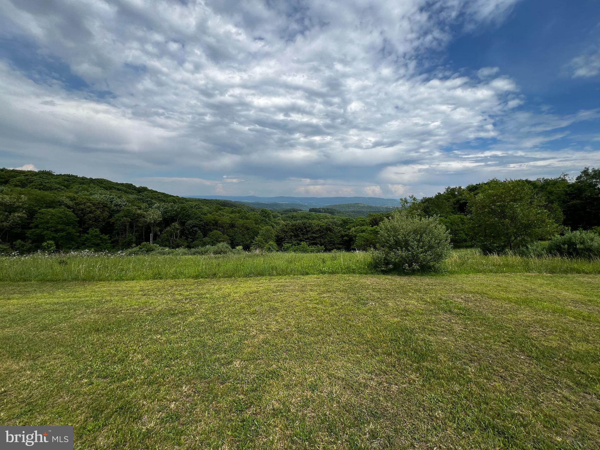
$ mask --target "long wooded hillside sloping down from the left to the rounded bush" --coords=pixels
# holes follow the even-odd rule
[[[350,250],[355,226],[383,217],[279,214],[228,200],[172,196],[133,184],[0,169],[0,252],[197,248]],[[50,247],[53,246],[53,247]]]

